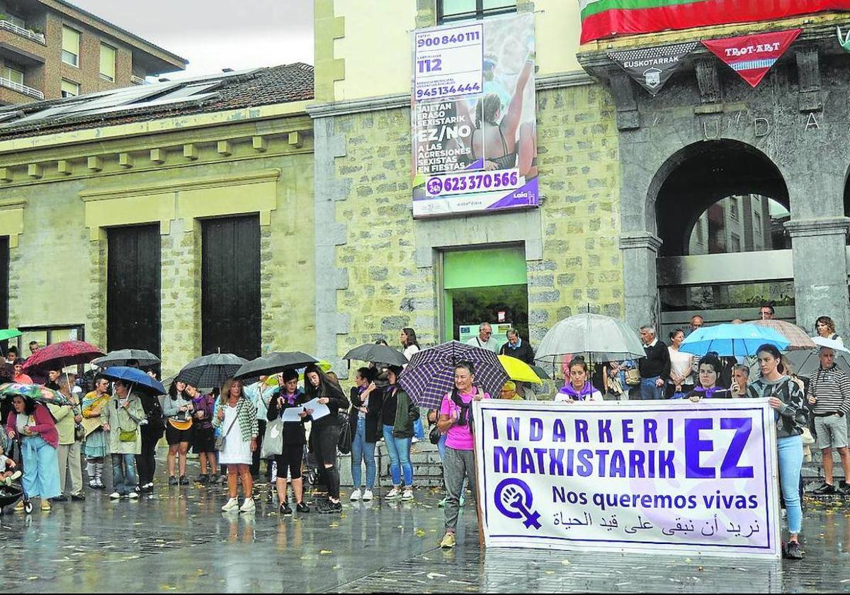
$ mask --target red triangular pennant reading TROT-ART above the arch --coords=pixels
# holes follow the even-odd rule
[[[802,29],[774,31],[740,37],[725,37],[702,42],[706,48],[729,65],[741,78],[756,88]]]

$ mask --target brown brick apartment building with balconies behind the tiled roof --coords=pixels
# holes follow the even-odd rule
[[[0,105],[108,91],[187,60],[62,0],[0,2]]]

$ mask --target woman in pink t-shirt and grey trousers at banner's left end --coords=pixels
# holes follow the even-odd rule
[[[455,366],[455,388],[445,394],[439,408],[437,427],[446,434],[443,479],[445,481],[445,536],[439,547],[455,547],[457,515],[463,479],[469,479],[469,487],[475,492],[475,461],[473,457],[472,423],[473,400],[490,399],[490,395],[474,386],[475,369],[469,362]]]

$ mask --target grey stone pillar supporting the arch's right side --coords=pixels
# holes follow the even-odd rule
[[[793,219],[785,224],[794,254],[796,320],[809,332],[818,316],[835,320],[839,334],[850,332],[848,228],[846,217]]]

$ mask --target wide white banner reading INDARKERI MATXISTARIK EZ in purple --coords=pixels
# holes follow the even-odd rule
[[[488,547],[779,558],[768,399],[475,404]]]

